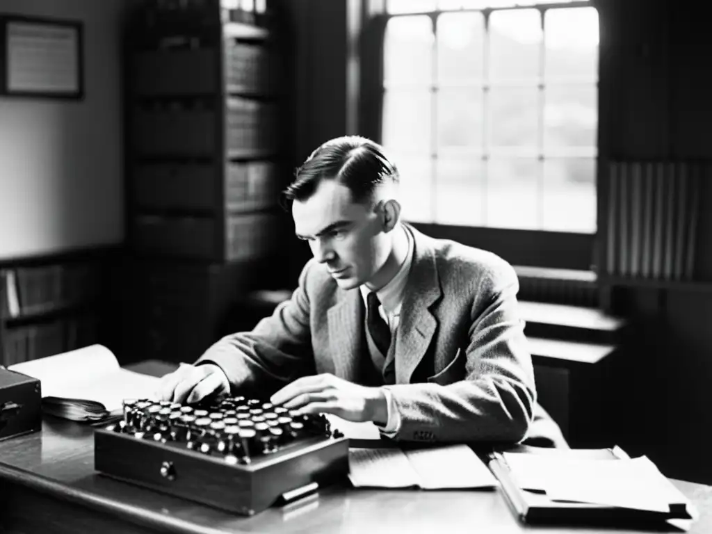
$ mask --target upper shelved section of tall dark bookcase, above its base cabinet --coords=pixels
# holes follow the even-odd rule
[[[189,4],[200,22],[156,1],[129,18],[129,241],[142,258],[263,257],[286,176],[281,54],[273,31],[253,25],[268,4]]]

